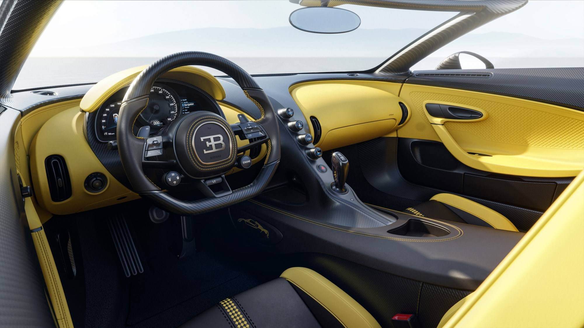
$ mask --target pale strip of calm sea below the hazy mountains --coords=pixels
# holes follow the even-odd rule
[[[76,83],[95,83],[126,68],[148,65],[154,57],[31,57],[23,66],[13,90],[43,88]],[[386,58],[381,57],[233,57],[229,58],[250,74],[364,71]],[[413,69],[434,69],[443,58],[427,57]],[[584,67],[584,57],[489,58],[495,68]],[[223,72],[202,67],[213,75]],[[469,67],[479,68],[479,67]]]

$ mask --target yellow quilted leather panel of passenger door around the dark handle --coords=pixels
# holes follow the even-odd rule
[[[582,111],[436,86],[405,84],[400,96],[412,114],[398,130],[398,137],[441,141],[471,168],[533,177],[572,177],[584,169]],[[426,103],[479,110],[484,117],[434,118],[427,113]]]

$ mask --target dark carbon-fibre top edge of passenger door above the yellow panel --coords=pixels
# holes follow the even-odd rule
[[[491,74],[469,76],[421,76],[420,74]],[[414,71],[405,83],[443,86],[535,100],[584,111],[584,67],[441,69]]]

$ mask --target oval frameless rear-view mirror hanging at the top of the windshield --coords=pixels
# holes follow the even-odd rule
[[[298,30],[325,34],[351,32],[361,25],[361,19],[356,13],[333,7],[296,9],[288,20]]]

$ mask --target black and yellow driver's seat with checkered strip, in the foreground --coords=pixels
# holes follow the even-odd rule
[[[390,297],[390,296],[388,296]],[[442,318],[439,327],[464,299]],[[181,326],[186,327],[381,327],[363,306],[317,272],[303,267],[226,298]]]

